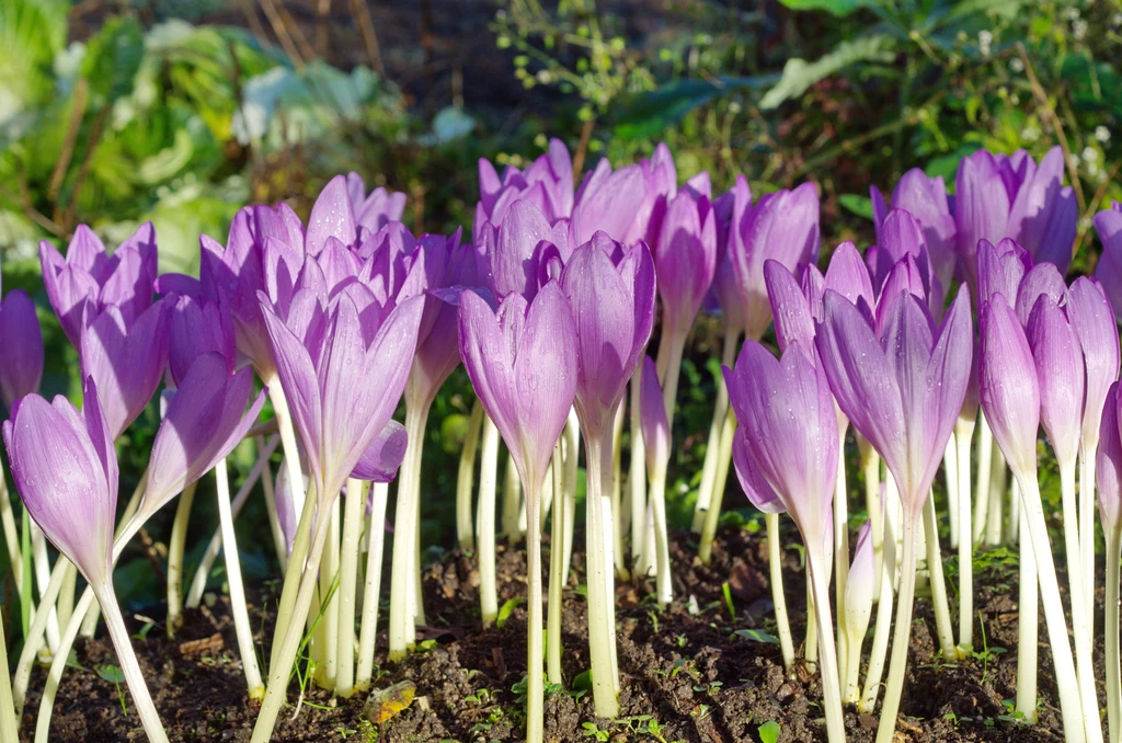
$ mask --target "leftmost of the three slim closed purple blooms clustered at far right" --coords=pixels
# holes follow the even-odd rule
[[[1017,313],[994,294],[982,304],[978,400],[1005,460],[1018,473],[1034,473],[1040,387],[1032,350]]]

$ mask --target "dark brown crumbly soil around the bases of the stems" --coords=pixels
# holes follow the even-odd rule
[[[571,692],[573,679],[588,669],[588,654],[586,604],[573,586],[567,590],[567,692],[546,700],[546,740],[732,743],[757,741],[758,727],[774,722],[780,726],[780,741],[825,741],[818,679],[801,661],[784,673],[779,645],[734,634],[736,630],[769,629],[772,605],[763,535],[724,531],[709,567],[693,557],[696,544],[690,535],[677,534],[672,547],[675,598],[695,597],[700,612],[693,615],[687,609],[688,600],[675,600],[660,614],[650,586],[618,586],[620,719],[596,719],[590,695]],[[522,551],[505,548],[499,549],[498,560],[502,603],[524,594],[525,560]],[[581,576],[580,554],[574,562],[576,575]],[[798,642],[804,635],[806,602],[803,574],[793,549],[785,552],[784,572]],[[726,581],[735,618],[729,617],[721,591]],[[932,644],[929,605],[918,599],[896,741],[1063,740],[1046,643],[1040,645],[1040,723],[1026,726],[1008,716],[1003,705],[1014,695],[1015,570],[990,568],[975,581],[980,587],[975,607],[982,622],[975,629],[976,637],[981,639],[984,627],[987,646],[1009,652],[995,651],[985,663],[940,663]],[[282,713],[274,740],[522,740],[521,705],[512,687],[525,673],[525,613],[516,608],[503,629],[482,630],[477,584],[470,556],[457,552],[430,568],[425,579],[429,627],[419,640],[432,642],[424,642],[426,649],[401,666],[384,664],[376,681],[376,688],[384,689],[412,680],[416,684],[416,699],[380,731],[362,723],[361,699],[337,706],[322,691],[312,691],[294,721],[293,706]],[[259,622],[259,609],[255,615]],[[1040,625],[1042,630],[1042,617]],[[1098,643],[1101,658],[1101,632]],[[135,645],[172,741],[249,740],[256,710],[246,699],[237,644],[223,602],[213,609],[190,613],[175,641],[166,640],[162,629],[156,629],[146,639],[135,640]],[[80,645],[77,657],[82,666],[91,669],[114,661],[108,640],[102,639]],[[383,654],[378,661],[385,661]],[[24,719],[26,740],[34,731],[42,681],[37,671]],[[93,671],[68,671],[58,694],[50,740],[142,741],[138,717],[125,696],[127,715],[121,712],[113,684]],[[293,704],[296,700],[295,687],[289,699]],[[650,721],[656,721],[657,735],[649,732]],[[595,730],[586,725],[595,725],[605,735],[597,737]],[[871,716],[847,710],[846,725],[850,741],[872,741],[875,735],[876,719]]]

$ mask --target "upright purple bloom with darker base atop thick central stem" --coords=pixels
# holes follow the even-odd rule
[[[588,438],[610,432],[616,407],[654,325],[654,262],[646,245],[629,249],[598,233],[561,274],[572,305],[577,346],[577,414]]]

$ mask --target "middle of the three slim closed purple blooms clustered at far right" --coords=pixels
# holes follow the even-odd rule
[[[1060,467],[1075,466],[1085,384],[1079,340],[1048,294],[1041,294],[1032,306],[1026,334],[1040,384],[1040,423]]]

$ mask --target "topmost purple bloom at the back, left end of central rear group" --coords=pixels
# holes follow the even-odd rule
[[[550,224],[572,217],[573,176],[569,148],[560,139],[551,139],[549,149],[525,171],[508,165],[500,178],[489,160],[479,158],[479,203],[476,205],[476,231],[472,239],[481,241],[484,223],[500,227],[507,210],[516,201],[533,204]]]

